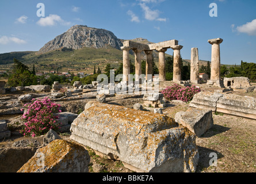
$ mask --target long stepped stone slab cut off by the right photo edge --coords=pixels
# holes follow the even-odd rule
[[[224,94],[217,101],[217,112],[253,118],[256,120],[256,98],[235,94]]]

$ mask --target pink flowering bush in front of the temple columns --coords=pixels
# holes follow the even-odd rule
[[[161,93],[167,100],[179,99],[184,102],[189,102],[193,99],[194,94],[199,93],[201,90],[196,86],[184,87],[174,86],[166,87]]]

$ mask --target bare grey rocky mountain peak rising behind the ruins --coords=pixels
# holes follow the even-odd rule
[[[55,51],[64,47],[80,49],[83,47],[104,48],[110,46],[120,49],[122,45],[121,40],[117,39],[109,30],[89,28],[86,25],[75,25],[45,44],[38,53]]]

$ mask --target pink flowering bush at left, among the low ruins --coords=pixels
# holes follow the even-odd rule
[[[59,124],[56,120],[59,117],[54,116],[54,113],[61,112],[59,104],[55,104],[51,99],[45,97],[37,100],[32,99],[32,102],[25,104],[24,107],[27,109],[22,116],[27,121],[21,131],[24,136],[44,135],[50,129],[58,131]]]

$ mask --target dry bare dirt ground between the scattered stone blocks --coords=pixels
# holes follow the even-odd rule
[[[237,93],[233,91],[232,93]],[[239,92],[240,93],[240,92]],[[252,93],[251,95],[255,95]],[[250,94],[247,94],[250,95]],[[81,102],[76,108],[83,108],[87,101]],[[106,103],[123,105],[128,108],[136,103],[143,103],[141,97],[116,97],[106,98]],[[75,102],[75,104],[78,104]],[[74,107],[73,107],[74,108]],[[185,111],[189,108],[186,103],[171,103],[163,110],[167,116],[173,117],[175,113]],[[72,107],[71,107],[72,109]],[[145,108],[144,110],[154,110]],[[8,119],[13,116],[5,116],[0,119]],[[197,166],[197,173],[256,173],[256,120],[231,116],[223,113],[213,113],[213,127],[197,137],[196,144],[200,159]],[[18,134],[18,129],[13,129],[9,139],[0,141],[0,149],[10,147],[18,140],[37,140],[41,143],[42,137],[27,138]],[[16,132],[16,133],[15,133]],[[69,140],[70,132],[60,135],[63,139]],[[89,164],[90,173],[132,173],[133,171],[125,168],[123,163],[118,160],[109,160],[97,155],[91,148],[86,147],[91,157]],[[213,155],[217,160],[213,162]],[[210,164],[213,163],[212,166]]]

